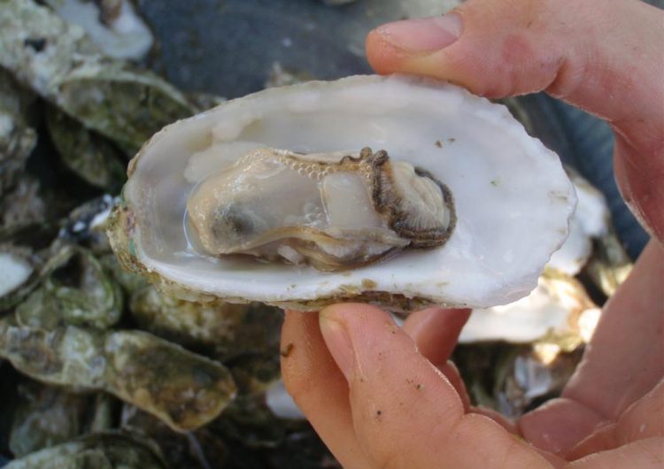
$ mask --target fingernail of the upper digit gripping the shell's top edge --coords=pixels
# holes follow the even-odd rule
[[[404,19],[378,27],[376,31],[395,47],[407,52],[431,52],[449,46],[461,35],[461,17],[456,13],[431,18]]]

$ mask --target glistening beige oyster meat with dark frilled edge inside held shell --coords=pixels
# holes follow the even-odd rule
[[[442,245],[454,227],[448,188],[368,148],[358,157],[250,151],[206,179],[188,212],[209,254],[282,258],[322,271]]]

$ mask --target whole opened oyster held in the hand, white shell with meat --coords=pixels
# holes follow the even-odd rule
[[[108,224],[126,267],[183,299],[305,311],[513,302],[576,203],[506,107],[406,76],[228,101],[154,135],[128,176]]]

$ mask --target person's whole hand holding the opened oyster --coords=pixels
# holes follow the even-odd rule
[[[403,328],[365,304],[287,311],[286,388],[347,468],[664,466],[664,14],[637,0],[469,0],[367,38],[378,73],[477,95],[545,90],[616,136],[622,195],[652,234],[559,399],[510,422],[469,405],[448,361],[468,311]]]

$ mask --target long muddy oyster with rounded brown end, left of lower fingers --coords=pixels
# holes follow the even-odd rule
[[[225,366],[141,331],[47,330],[5,317],[0,358],[37,381],[109,392],[176,431],[205,425],[235,396]]]

